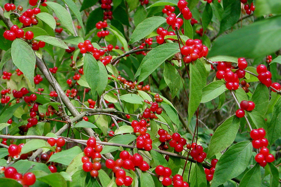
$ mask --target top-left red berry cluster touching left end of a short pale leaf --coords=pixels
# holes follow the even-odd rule
[[[27,9],[22,15],[19,17],[19,20],[23,25],[30,26],[37,25],[38,20],[36,19],[36,14],[39,14],[41,10],[39,8]]]

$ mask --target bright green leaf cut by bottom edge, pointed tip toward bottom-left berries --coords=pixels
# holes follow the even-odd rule
[[[66,180],[60,173],[52,173],[43,177],[38,177],[36,180],[49,184],[52,187],[66,187]]]

